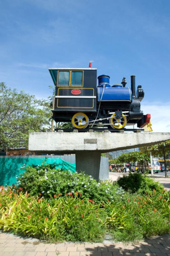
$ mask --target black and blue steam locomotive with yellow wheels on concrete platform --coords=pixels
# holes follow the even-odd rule
[[[137,124],[143,128],[150,122],[150,114],[143,115],[140,102],[144,97],[141,85],[135,93],[135,76],[131,88],[126,78],[121,84],[110,84],[110,76],[97,77],[96,68],[49,68],[55,84],[52,109],[56,122],[71,122],[76,129],[110,127],[123,129]],[[98,78],[98,85],[97,85]]]

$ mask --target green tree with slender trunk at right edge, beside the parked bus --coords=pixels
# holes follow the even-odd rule
[[[141,148],[141,152],[155,157],[162,157],[164,158],[165,162],[165,177],[167,177],[167,172],[166,172],[166,158],[170,152],[170,140],[158,143],[156,145],[153,145],[151,147],[145,147]]]

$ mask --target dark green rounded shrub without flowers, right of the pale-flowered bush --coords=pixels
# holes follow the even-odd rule
[[[123,177],[118,178],[117,183],[124,190],[130,191],[131,193],[138,191],[141,194],[149,194],[153,189],[158,190],[163,188],[158,182],[155,182],[141,173],[129,173],[129,175],[123,175]]]

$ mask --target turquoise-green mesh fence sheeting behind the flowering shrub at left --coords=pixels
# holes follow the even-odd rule
[[[24,173],[26,166],[41,165],[42,163],[55,163],[56,169],[60,168],[62,171],[76,171],[75,163],[71,164],[60,158],[0,158],[0,186],[16,184],[16,175]]]

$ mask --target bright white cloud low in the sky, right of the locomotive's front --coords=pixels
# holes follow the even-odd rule
[[[170,102],[141,104],[144,114],[151,114],[153,132],[170,132]]]

